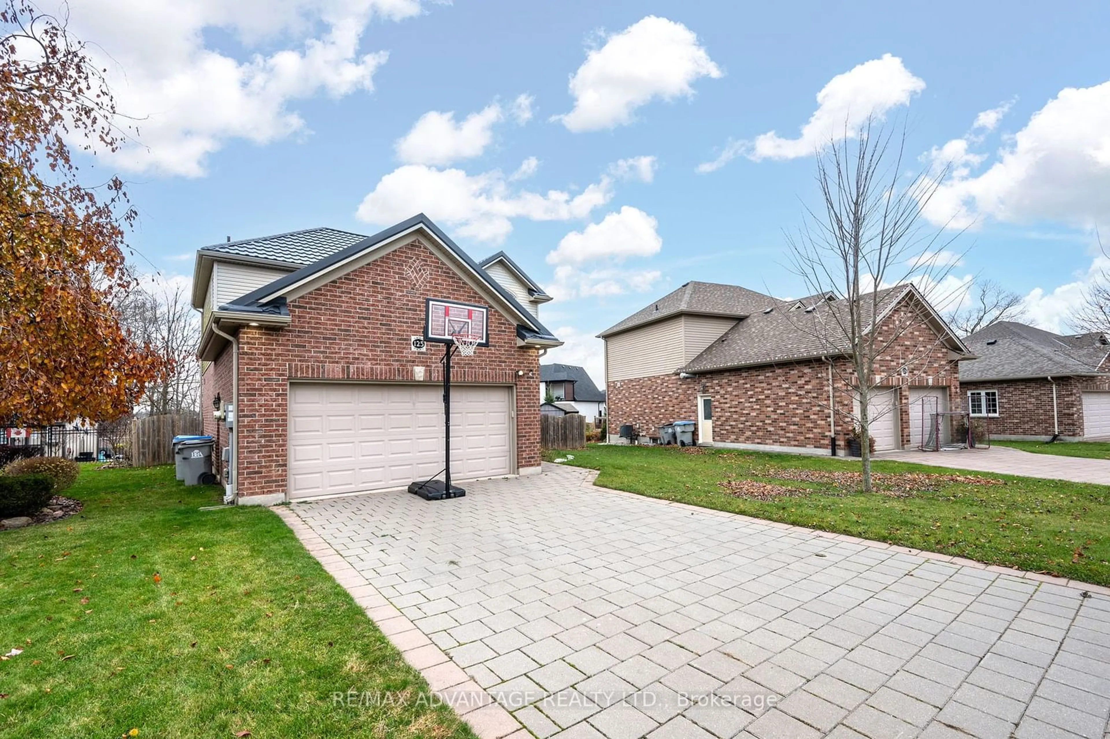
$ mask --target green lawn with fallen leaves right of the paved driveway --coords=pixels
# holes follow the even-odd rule
[[[1102,485],[986,474],[1005,484],[910,477],[902,484],[920,492],[897,497],[799,482],[813,473],[859,469],[858,462],[830,457],[616,445],[571,454],[566,464],[601,470],[603,487],[1110,585],[1110,487]],[[980,475],[897,462],[878,462],[875,469]],[[737,497],[720,485],[751,485],[744,480],[795,492],[763,500]]]

